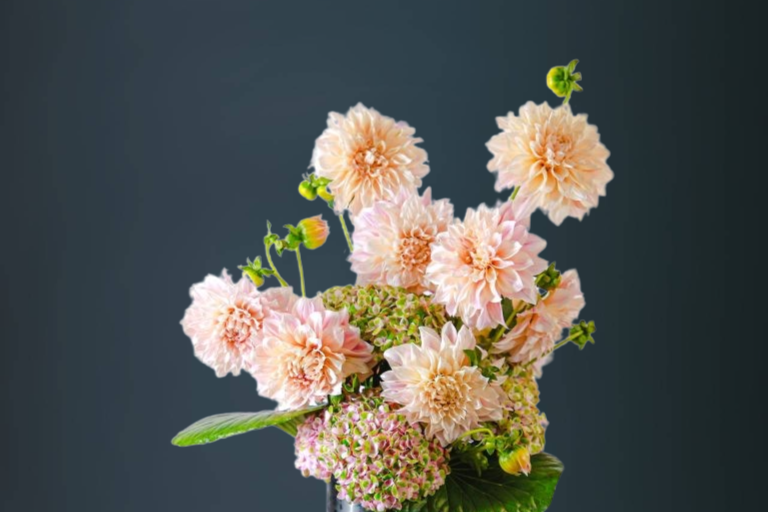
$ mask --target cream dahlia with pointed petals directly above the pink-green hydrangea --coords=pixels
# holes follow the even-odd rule
[[[382,396],[400,404],[411,423],[425,424],[427,437],[443,446],[483,421],[502,417],[500,389],[469,365],[465,350],[475,348],[472,331],[457,333],[452,323],[441,334],[421,328],[421,346],[400,345],[384,353],[390,371],[381,376]]]

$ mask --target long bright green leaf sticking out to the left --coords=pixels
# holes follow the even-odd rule
[[[266,427],[278,427],[295,436],[303,417],[320,409],[322,406],[300,411],[231,412],[208,416],[179,432],[171,443],[176,446],[208,444]]]

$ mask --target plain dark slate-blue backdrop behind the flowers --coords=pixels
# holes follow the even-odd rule
[[[494,118],[557,103],[547,70],[579,58],[573,107],[616,177],[583,222],[533,219],[598,325],[541,382],[566,466],[551,510],[761,509],[759,20],[740,2],[2,2],[0,508],[321,510],[276,429],[171,446],[273,405],[193,357],[189,286],[261,254],[267,219],[317,213],[309,290],[352,282],[296,186],[327,113],[358,101],[416,127],[459,214],[495,202]]]

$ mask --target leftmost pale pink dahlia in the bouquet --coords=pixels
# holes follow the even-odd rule
[[[192,305],[181,320],[192,339],[195,355],[216,371],[217,377],[239,375],[262,336],[265,319],[286,311],[295,300],[290,288],[260,293],[250,279],[237,283],[227,273],[209,275],[189,291]]]

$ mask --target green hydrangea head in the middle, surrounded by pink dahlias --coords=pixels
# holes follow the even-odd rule
[[[346,309],[360,337],[373,344],[379,355],[390,347],[419,344],[419,327],[440,332],[449,318],[430,297],[393,286],[338,286],[322,298],[328,309]]]

